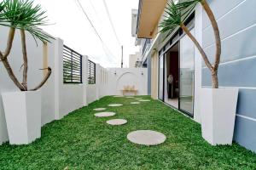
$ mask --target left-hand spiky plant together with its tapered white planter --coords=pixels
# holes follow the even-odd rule
[[[47,74],[38,86],[28,88],[27,71],[28,59],[26,49],[26,33],[34,37],[35,42],[49,42],[47,33],[38,28],[46,26],[47,20],[40,5],[34,5],[31,0],[3,0],[0,3],[0,25],[9,27],[9,35],[5,50],[0,51],[0,59],[10,79],[21,92],[3,93],[3,106],[9,132],[10,144],[28,144],[41,135],[41,94],[39,88],[50,77],[50,67],[44,68]],[[23,77],[19,82],[9,64],[9,54],[12,49],[16,31],[20,31],[20,40],[23,56]]]

